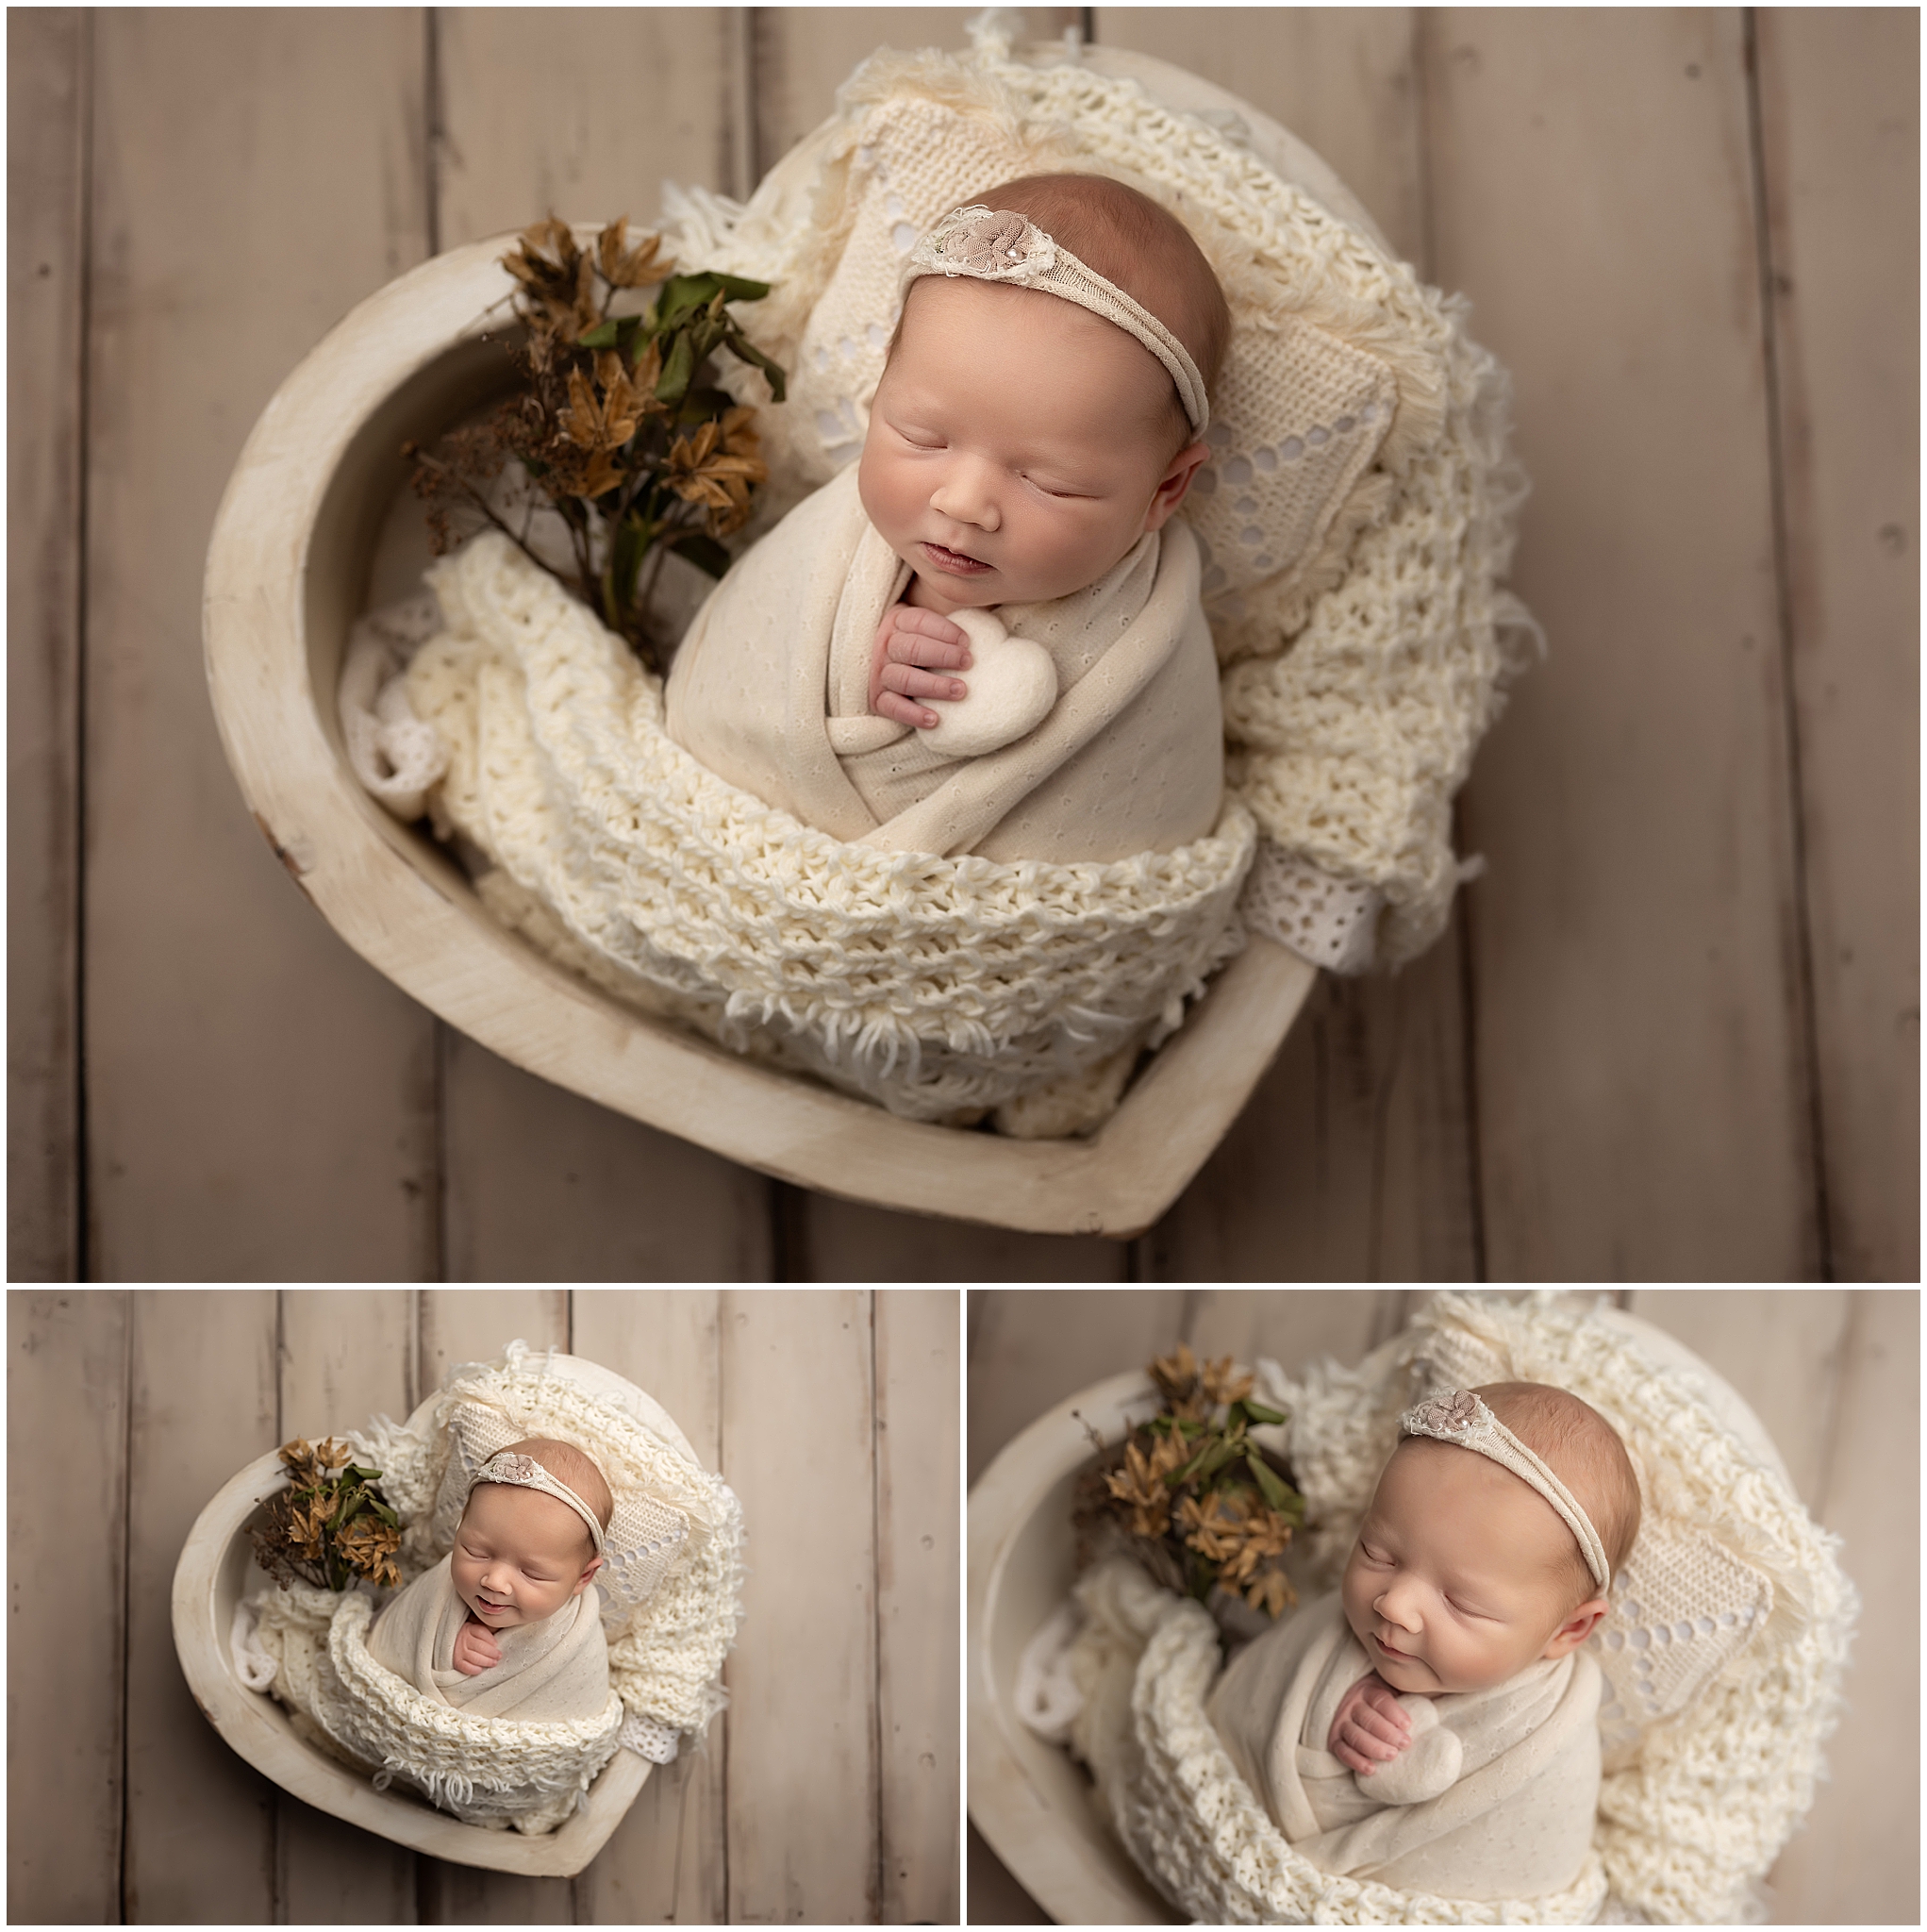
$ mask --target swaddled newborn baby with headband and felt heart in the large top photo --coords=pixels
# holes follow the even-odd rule
[[[1224,294],[1103,176],[987,189],[911,249],[863,458],[712,593],[668,730],[711,771],[890,850],[1118,860],[1222,798],[1199,553]]]

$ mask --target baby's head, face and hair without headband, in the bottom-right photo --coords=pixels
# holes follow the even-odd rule
[[[1539,1381],[1469,1393],[1570,1492],[1608,1577],[1618,1575],[1639,1530],[1639,1484],[1612,1424]],[[1471,1408],[1464,1395],[1456,1401],[1462,1414]],[[1452,1439],[1408,1435],[1379,1476],[1342,1596],[1377,1673],[1394,1690],[1438,1696],[1483,1690],[1576,1650],[1606,1613],[1605,1588],[1576,1532],[1525,1476]]]

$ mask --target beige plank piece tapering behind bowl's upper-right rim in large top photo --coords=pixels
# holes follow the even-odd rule
[[[1101,6],[1093,41],[1155,54],[1271,114],[1425,259],[1411,8]]]

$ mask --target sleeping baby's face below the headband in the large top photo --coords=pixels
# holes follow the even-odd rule
[[[923,276],[871,404],[857,489],[950,612],[1068,597],[1184,500],[1203,444],[1172,456],[1170,377],[1058,296]]]

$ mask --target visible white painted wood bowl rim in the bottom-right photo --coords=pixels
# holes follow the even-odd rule
[[[1697,1376],[1720,1422],[1792,1490],[1761,1420],[1691,1349],[1622,1310],[1601,1310],[1601,1320],[1632,1335],[1655,1366]],[[1145,1884],[1083,1770],[1016,1712],[1023,1646],[1075,1577],[1070,1509],[1097,1453],[1089,1430],[1110,1447],[1157,1408],[1157,1389],[1137,1370],[1097,1381],[1008,1441],[969,1493],[969,1816],[1058,1924],[1184,1922]]]

